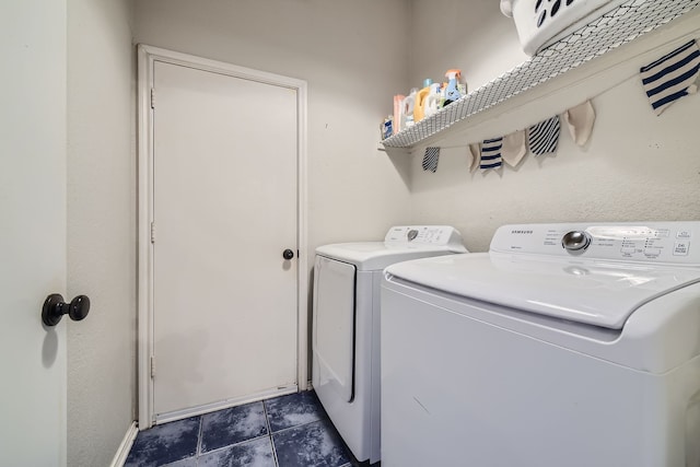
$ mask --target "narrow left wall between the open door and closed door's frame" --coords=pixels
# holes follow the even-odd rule
[[[68,1],[68,465],[106,466],[136,413],[131,0]]]

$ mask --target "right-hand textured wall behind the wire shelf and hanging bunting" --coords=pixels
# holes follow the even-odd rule
[[[441,21],[440,34],[421,32],[412,36],[415,48],[436,50],[450,45],[448,55],[427,60],[428,72],[422,72],[420,63],[427,54],[416,55],[418,61],[411,66],[413,83],[420,83],[428,73],[434,75],[438,70],[454,67],[465,70],[474,90],[489,81],[489,72],[494,78],[524,58],[514,26],[511,20],[499,16],[495,0],[475,2],[477,7],[488,4],[492,13],[470,26],[460,25],[464,14],[438,14],[436,10],[466,13],[466,3],[471,8],[472,2],[440,0],[435,10],[434,0],[413,3],[413,11],[421,12],[413,17],[413,31],[421,22]],[[427,11],[432,12],[432,17],[425,17]],[[698,24],[697,16],[691,21]],[[502,40],[494,40],[494,35]],[[472,85],[472,81],[477,84]],[[452,141],[451,148],[443,149],[435,174],[422,171],[420,154],[410,156],[413,222],[456,225],[467,248],[482,252],[488,249],[495,229],[505,223],[699,220],[700,96],[686,97],[657,117],[634,75],[597,95],[593,105],[597,120],[584,148],[576,147],[562,128],[556,156],[536,159],[529,154],[516,170],[470,173],[465,147],[472,140],[468,135],[464,137],[465,147],[458,148]],[[540,117],[533,107],[535,121],[527,125],[536,124]],[[498,119],[489,125],[480,126],[481,136],[489,131],[492,137],[502,136],[513,129],[499,127]]]

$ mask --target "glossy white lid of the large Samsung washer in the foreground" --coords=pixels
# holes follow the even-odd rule
[[[454,295],[612,329],[622,328],[641,305],[700,282],[698,268],[488,253],[401,262],[386,272]]]

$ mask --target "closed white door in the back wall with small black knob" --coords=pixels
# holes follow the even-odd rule
[[[294,392],[296,90],[155,61],[153,96],[155,419]]]

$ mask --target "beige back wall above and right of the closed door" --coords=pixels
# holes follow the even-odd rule
[[[408,161],[376,151],[392,96],[408,85],[407,13],[404,0],[147,0],[136,38],[308,82],[313,265],[320,244],[409,222]]]

